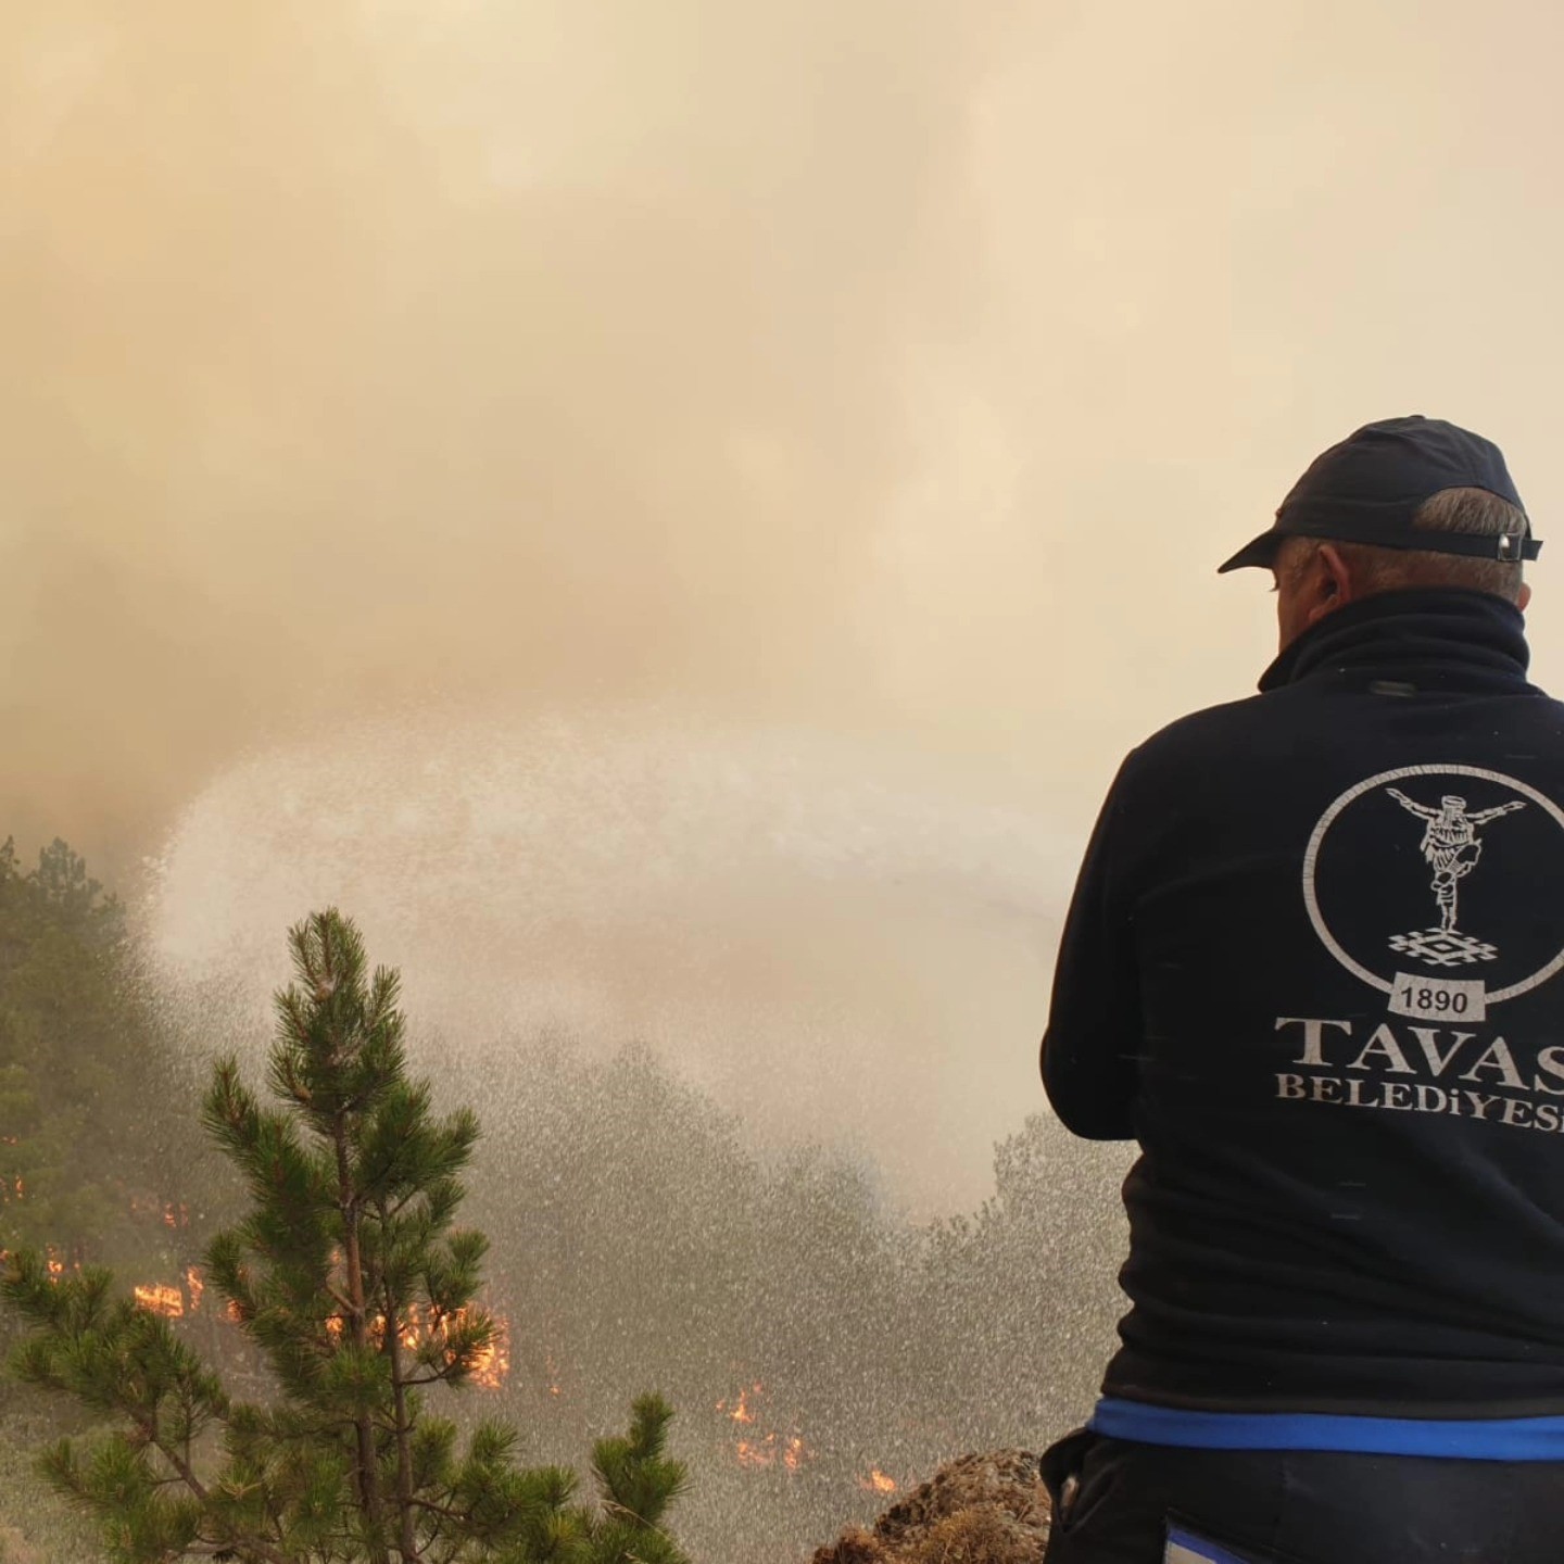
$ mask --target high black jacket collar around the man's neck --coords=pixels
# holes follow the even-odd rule
[[[1525,685],[1525,621],[1490,593],[1445,586],[1376,593],[1326,615],[1261,676],[1279,690],[1311,674],[1365,674],[1422,688]]]

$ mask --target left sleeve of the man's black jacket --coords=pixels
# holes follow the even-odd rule
[[[1131,904],[1118,859],[1125,773],[1098,816],[1076,881],[1054,965],[1043,1035],[1043,1085],[1067,1129],[1087,1140],[1134,1140],[1139,1078],[1140,982]]]

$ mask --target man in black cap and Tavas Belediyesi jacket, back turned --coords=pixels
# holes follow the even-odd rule
[[[1564,1556],[1564,705],[1541,544],[1437,419],[1318,457],[1247,701],[1125,760],[1043,1040],[1137,1140],[1129,1314],[1051,1564]]]

